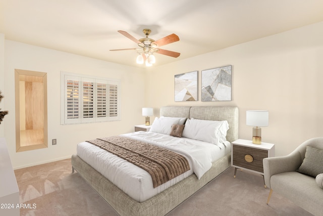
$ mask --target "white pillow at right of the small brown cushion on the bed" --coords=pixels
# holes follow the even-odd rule
[[[226,141],[228,121],[210,121],[187,119],[182,137],[200,140],[207,143],[220,144]]]

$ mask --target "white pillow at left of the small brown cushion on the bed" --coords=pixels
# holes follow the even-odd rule
[[[161,116],[160,118],[155,117],[155,120],[152,122],[149,132],[170,135],[172,130],[172,125],[184,124],[185,120],[186,118],[165,117],[165,116]]]

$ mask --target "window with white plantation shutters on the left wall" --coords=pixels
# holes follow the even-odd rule
[[[118,80],[61,73],[61,123],[120,120]]]

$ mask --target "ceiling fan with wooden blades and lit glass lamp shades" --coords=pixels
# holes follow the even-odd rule
[[[146,37],[143,37],[141,39],[136,39],[134,36],[130,35],[126,31],[119,30],[118,32],[128,37],[132,41],[136,42],[139,48],[118,49],[118,50],[110,50],[110,51],[137,50],[139,54],[137,56],[138,64],[143,64],[145,62],[146,66],[151,66],[156,61],[153,55],[154,53],[171,56],[174,58],[177,58],[181,55],[180,53],[177,53],[174,51],[164,50],[159,48],[161,46],[171,44],[172,42],[179,41],[180,38],[174,33],[166,37],[160,38],[158,40],[154,40],[148,37],[148,35],[151,33],[150,29],[143,29],[143,33],[146,35]]]

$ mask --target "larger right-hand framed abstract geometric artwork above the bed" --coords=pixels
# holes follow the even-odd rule
[[[231,101],[232,66],[202,70],[202,101]]]

